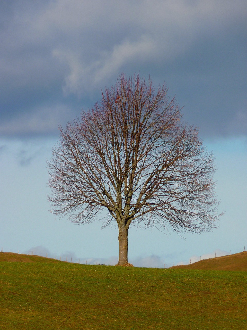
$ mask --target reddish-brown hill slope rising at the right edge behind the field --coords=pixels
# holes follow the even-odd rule
[[[203,259],[189,265],[179,265],[170,268],[201,269],[201,270],[231,270],[247,271],[247,251]]]

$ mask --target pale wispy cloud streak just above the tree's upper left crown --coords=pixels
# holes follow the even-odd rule
[[[121,44],[114,45],[112,50],[102,52],[101,57],[89,65],[83,63],[79,53],[54,49],[52,54],[69,66],[69,74],[65,77],[63,87],[65,95],[74,93],[81,97],[90,93],[92,87],[99,88],[102,82],[123,71],[124,65],[130,61],[144,61],[155,51],[153,40],[143,35],[136,42],[124,40]]]

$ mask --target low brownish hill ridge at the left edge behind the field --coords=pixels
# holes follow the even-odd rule
[[[30,255],[30,254],[18,254],[14,252],[0,252],[0,262],[1,261],[18,261],[18,262],[48,262],[57,263],[62,262],[57,259],[41,257],[40,255]]]

